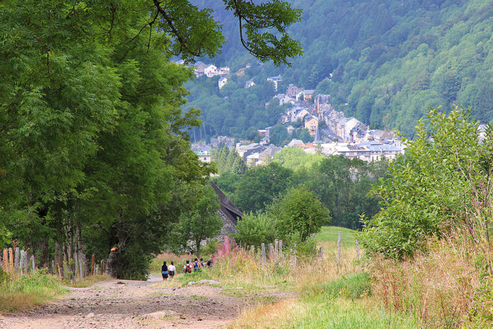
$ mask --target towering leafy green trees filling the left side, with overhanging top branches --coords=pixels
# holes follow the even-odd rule
[[[286,3],[223,7],[263,59],[300,52],[285,32],[300,12]],[[264,27],[280,39],[259,39]],[[181,0],[3,1],[0,31],[2,239],[36,250],[42,264],[54,250],[68,261],[116,246],[113,273],[144,278],[164,231],[193,204],[192,186],[212,172],[189,149],[199,111],[180,109],[192,71],[169,60],[170,49],[188,62],[218,53],[211,10]]]

